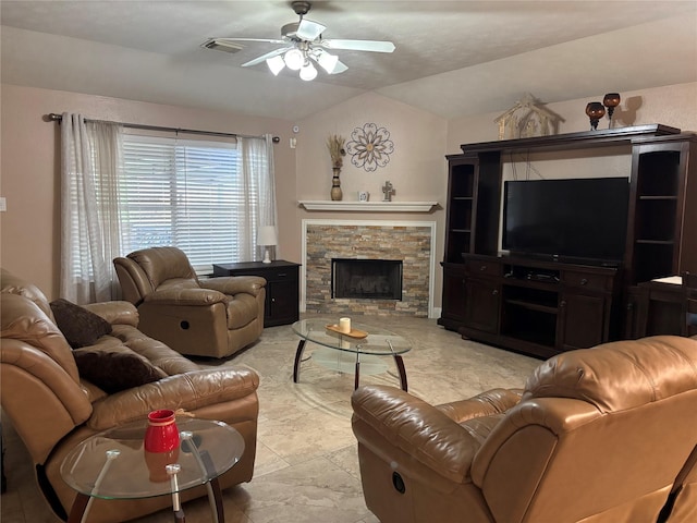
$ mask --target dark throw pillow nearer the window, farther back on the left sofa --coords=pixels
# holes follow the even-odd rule
[[[51,302],[56,325],[73,349],[93,345],[111,332],[111,324],[101,316],[62,297]]]

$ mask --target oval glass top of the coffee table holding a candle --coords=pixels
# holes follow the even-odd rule
[[[394,355],[404,354],[412,344],[396,332],[371,325],[352,323],[352,330],[367,333],[355,338],[331,330],[337,320],[329,318],[301,319],[291,327],[301,338],[338,351],[358,354]],[[329,327],[329,328],[328,328]]]

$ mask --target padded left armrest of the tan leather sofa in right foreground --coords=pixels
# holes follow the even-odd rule
[[[469,482],[469,467],[479,443],[433,405],[388,386],[359,387],[351,403],[354,433],[363,422],[384,438],[383,443],[377,445],[395,446],[451,482]],[[358,434],[356,437],[370,446]]]

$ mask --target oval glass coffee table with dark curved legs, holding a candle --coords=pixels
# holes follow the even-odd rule
[[[293,381],[298,382],[301,374],[301,363],[305,344],[308,341],[318,345],[355,354],[355,382],[354,388],[358,388],[360,380],[360,356],[392,356],[400,375],[402,390],[407,390],[406,369],[402,354],[412,350],[412,344],[396,332],[392,332],[380,327],[365,324],[352,324],[355,336],[348,336],[333,330],[335,320],[328,318],[301,319],[292,325],[293,332],[301,337],[295,351],[295,364],[293,365]],[[329,327],[329,328],[328,328]],[[366,336],[363,336],[366,335]]]

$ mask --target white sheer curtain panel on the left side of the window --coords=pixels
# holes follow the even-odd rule
[[[60,295],[74,303],[109,301],[119,255],[118,180],[121,127],[86,123],[81,114],[61,121]]]

